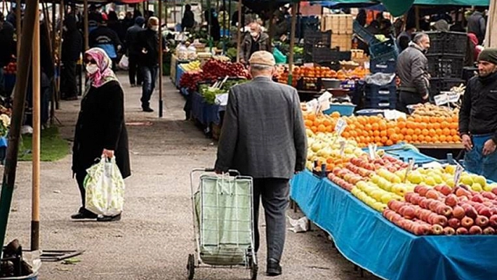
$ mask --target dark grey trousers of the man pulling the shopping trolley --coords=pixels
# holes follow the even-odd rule
[[[281,260],[286,234],[286,208],[289,206],[289,180],[265,178],[253,180],[253,217],[256,251],[259,250],[259,205],[262,199],[266,218],[267,258]]]

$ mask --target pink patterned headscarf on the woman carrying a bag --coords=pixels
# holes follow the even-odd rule
[[[98,71],[88,77],[92,86],[100,88],[110,81],[119,81],[112,71],[112,60],[102,48],[90,48],[84,54],[85,58],[90,56],[97,62]]]

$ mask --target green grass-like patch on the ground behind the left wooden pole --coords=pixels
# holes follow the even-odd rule
[[[69,154],[69,143],[60,138],[58,127],[52,126],[41,131],[41,161],[58,161]],[[19,161],[32,161],[32,135],[22,135]]]

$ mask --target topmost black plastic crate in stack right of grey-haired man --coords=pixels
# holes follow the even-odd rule
[[[462,32],[427,32],[430,36],[428,55],[466,55],[468,34]]]

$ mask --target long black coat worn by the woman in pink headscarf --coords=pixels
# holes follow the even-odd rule
[[[72,171],[86,171],[95,164],[95,159],[100,159],[103,149],[114,150],[123,178],[131,175],[124,93],[118,81],[100,88],[92,86],[81,100],[72,147]]]

